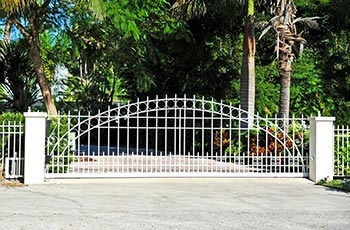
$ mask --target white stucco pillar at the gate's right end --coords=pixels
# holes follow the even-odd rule
[[[314,182],[333,180],[334,117],[310,117],[310,174]]]

